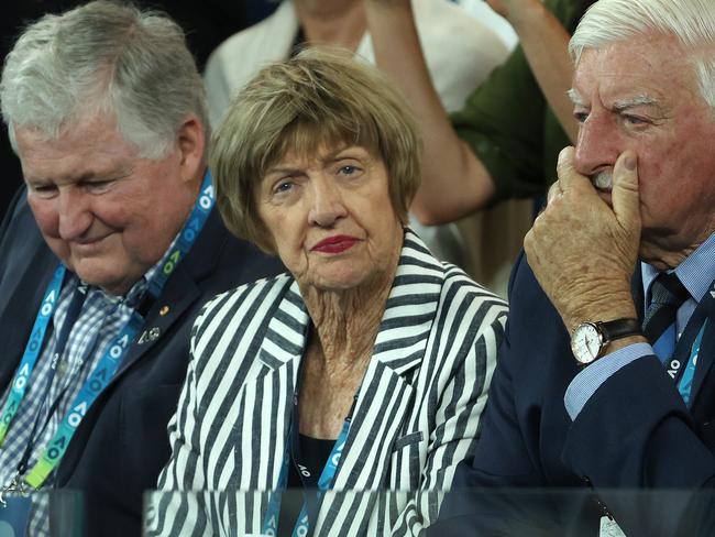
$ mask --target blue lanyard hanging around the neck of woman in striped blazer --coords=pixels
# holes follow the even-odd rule
[[[301,364],[302,365],[302,364]],[[300,368],[302,370],[302,368]],[[301,373],[298,373],[298,379],[301,377]],[[300,475],[300,481],[302,482],[305,489],[305,502],[296,525],[293,529],[293,537],[305,537],[311,534],[310,520],[312,524],[318,520],[318,512],[320,511],[320,502],[323,496],[323,492],[332,489],[333,480],[338,473],[338,467],[340,465],[340,459],[342,458],[342,451],[348,441],[348,435],[350,434],[350,424],[352,420],[352,414],[355,409],[355,404],[358,397],[353,399],[352,407],[345,418],[342,428],[340,429],[340,435],[330,451],[330,456],[326,461],[326,465],[320,472],[320,476],[316,482],[315,475],[310,474],[308,470],[300,464],[300,441],[298,439],[298,391],[296,390],[293,397],[293,420],[290,424],[290,431],[288,434],[288,442],[286,446],[286,451],[283,456],[283,464],[280,468],[280,475],[278,476],[278,491],[274,491],[268,496],[268,508],[266,516],[263,520],[263,534],[265,535],[277,535],[278,531],[278,518],[280,514],[280,490],[285,490],[288,483],[288,467],[290,460],[296,465],[298,475]],[[312,490],[318,489],[316,494],[312,494]],[[314,527],[315,529],[315,527]]]

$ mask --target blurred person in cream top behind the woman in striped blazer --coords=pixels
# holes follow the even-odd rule
[[[508,47],[492,28],[501,18],[486,8],[491,17],[476,20],[447,0],[413,0],[411,4],[440,106],[458,110],[507,57]],[[218,124],[231,97],[263,66],[287,59],[306,46],[340,46],[374,63],[369,22],[364,0],[284,0],[275,13],[228,39],[209,58],[205,79],[212,122]],[[418,107],[415,112],[422,113]],[[437,161],[435,166],[442,157]],[[437,257],[457,263],[472,275],[485,276],[484,283],[491,285],[492,275],[503,263],[510,267],[528,229],[530,208],[499,208],[486,220],[473,220],[465,227],[468,240],[454,224],[426,228],[416,219],[410,224]],[[505,250],[505,243],[510,248]],[[483,250],[490,251],[488,257],[477,253]]]

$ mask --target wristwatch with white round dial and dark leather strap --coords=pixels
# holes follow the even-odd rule
[[[640,336],[642,329],[638,319],[582,322],[571,335],[571,351],[581,365],[587,365],[605,354],[612,341],[628,336]]]

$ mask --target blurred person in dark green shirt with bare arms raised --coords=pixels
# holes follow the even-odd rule
[[[453,112],[432,84],[410,1],[364,0],[377,66],[418,111],[425,158],[411,210],[426,224],[454,221],[505,199],[541,199],[559,151],[575,136],[566,45],[593,0],[487,1],[513,25],[519,46]],[[521,239],[528,227],[519,227]],[[481,257],[497,255],[498,248],[485,242]],[[510,260],[517,251],[510,249]]]

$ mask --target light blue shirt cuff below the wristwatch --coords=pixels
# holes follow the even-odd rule
[[[596,360],[573,377],[563,396],[563,404],[573,421],[586,405],[591,396],[601,385],[622,368],[634,360],[653,354],[653,348],[648,343],[634,343],[618,349],[610,354]]]

